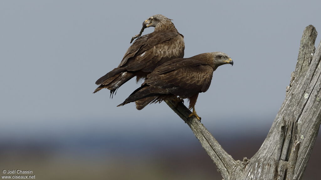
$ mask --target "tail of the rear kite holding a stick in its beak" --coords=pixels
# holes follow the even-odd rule
[[[110,90],[110,96],[112,96],[121,85],[134,76],[134,73],[115,68],[96,81],[96,84],[100,86],[98,86],[93,93],[100,91],[100,89],[107,88]]]

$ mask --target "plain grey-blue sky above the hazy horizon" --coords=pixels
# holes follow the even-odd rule
[[[321,32],[320,5],[1,1],[0,137],[182,129],[165,103],[141,111],[133,103],[116,107],[139,87],[134,80],[113,99],[108,90],[92,94],[95,81],[117,67],[143,20],[158,13],[173,19],[184,35],[185,57],[222,51],[234,61],[233,67],[219,67],[210,89],[199,95],[195,108],[204,125],[221,132],[270,125],[284,100],[304,28],[312,24]]]

